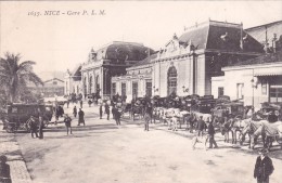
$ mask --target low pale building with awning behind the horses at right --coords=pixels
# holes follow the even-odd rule
[[[213,78],[213,94],[218,86],[231,100],[260,108],[265,102],[282,103],[282,52],[223,67],[223,77]],[[235,77],[234,77],[235,76]]]

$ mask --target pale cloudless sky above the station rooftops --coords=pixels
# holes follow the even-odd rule
[[[268,24],[282,19],[282,1],[0,1],[0,56],[21,53],[36,73],[66,71],[87,62],[91,48],[127,41],[158,50],[209,18]]]

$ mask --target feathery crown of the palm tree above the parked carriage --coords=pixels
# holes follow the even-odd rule
[[[5,58],[0,60],[0,83],[5,90],[11,103],[18,101],[21,93],[28,90],[27,83],[43,84],[42,80],[34,73],[33,61],[20,63],[20,54],[5,53]]]

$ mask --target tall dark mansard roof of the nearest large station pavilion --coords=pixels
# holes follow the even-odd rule
[[[180,43],[192,42],[196,49],[262,52],[262,45],[242,29],[241,24],[208,21],[193,26],[179,37]],[[241,40],[244,38],[244,49]]]

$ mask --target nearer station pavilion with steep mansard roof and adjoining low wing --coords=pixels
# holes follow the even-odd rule
[[[112,77],[112,93],[126,93],[127,101],[172,92],[179,96],[209,95],[211,78],[223,76],[222,67],[262,53],[262,45],[242,24],[208,21],[188,28],[180,37],[174,35],[156,54],[127,68],[126,75]],[[217,90],[225,93],[221,86]]]

